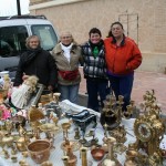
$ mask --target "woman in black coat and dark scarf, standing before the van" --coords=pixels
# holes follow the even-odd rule
[[[39,77],[39,83],[53,91],[56,84],[56,66],[53,56],[40,45],[40,39],[31,35],[27,39],[28,50],[21,55],[14,86],[22,84],[28,75]]]

